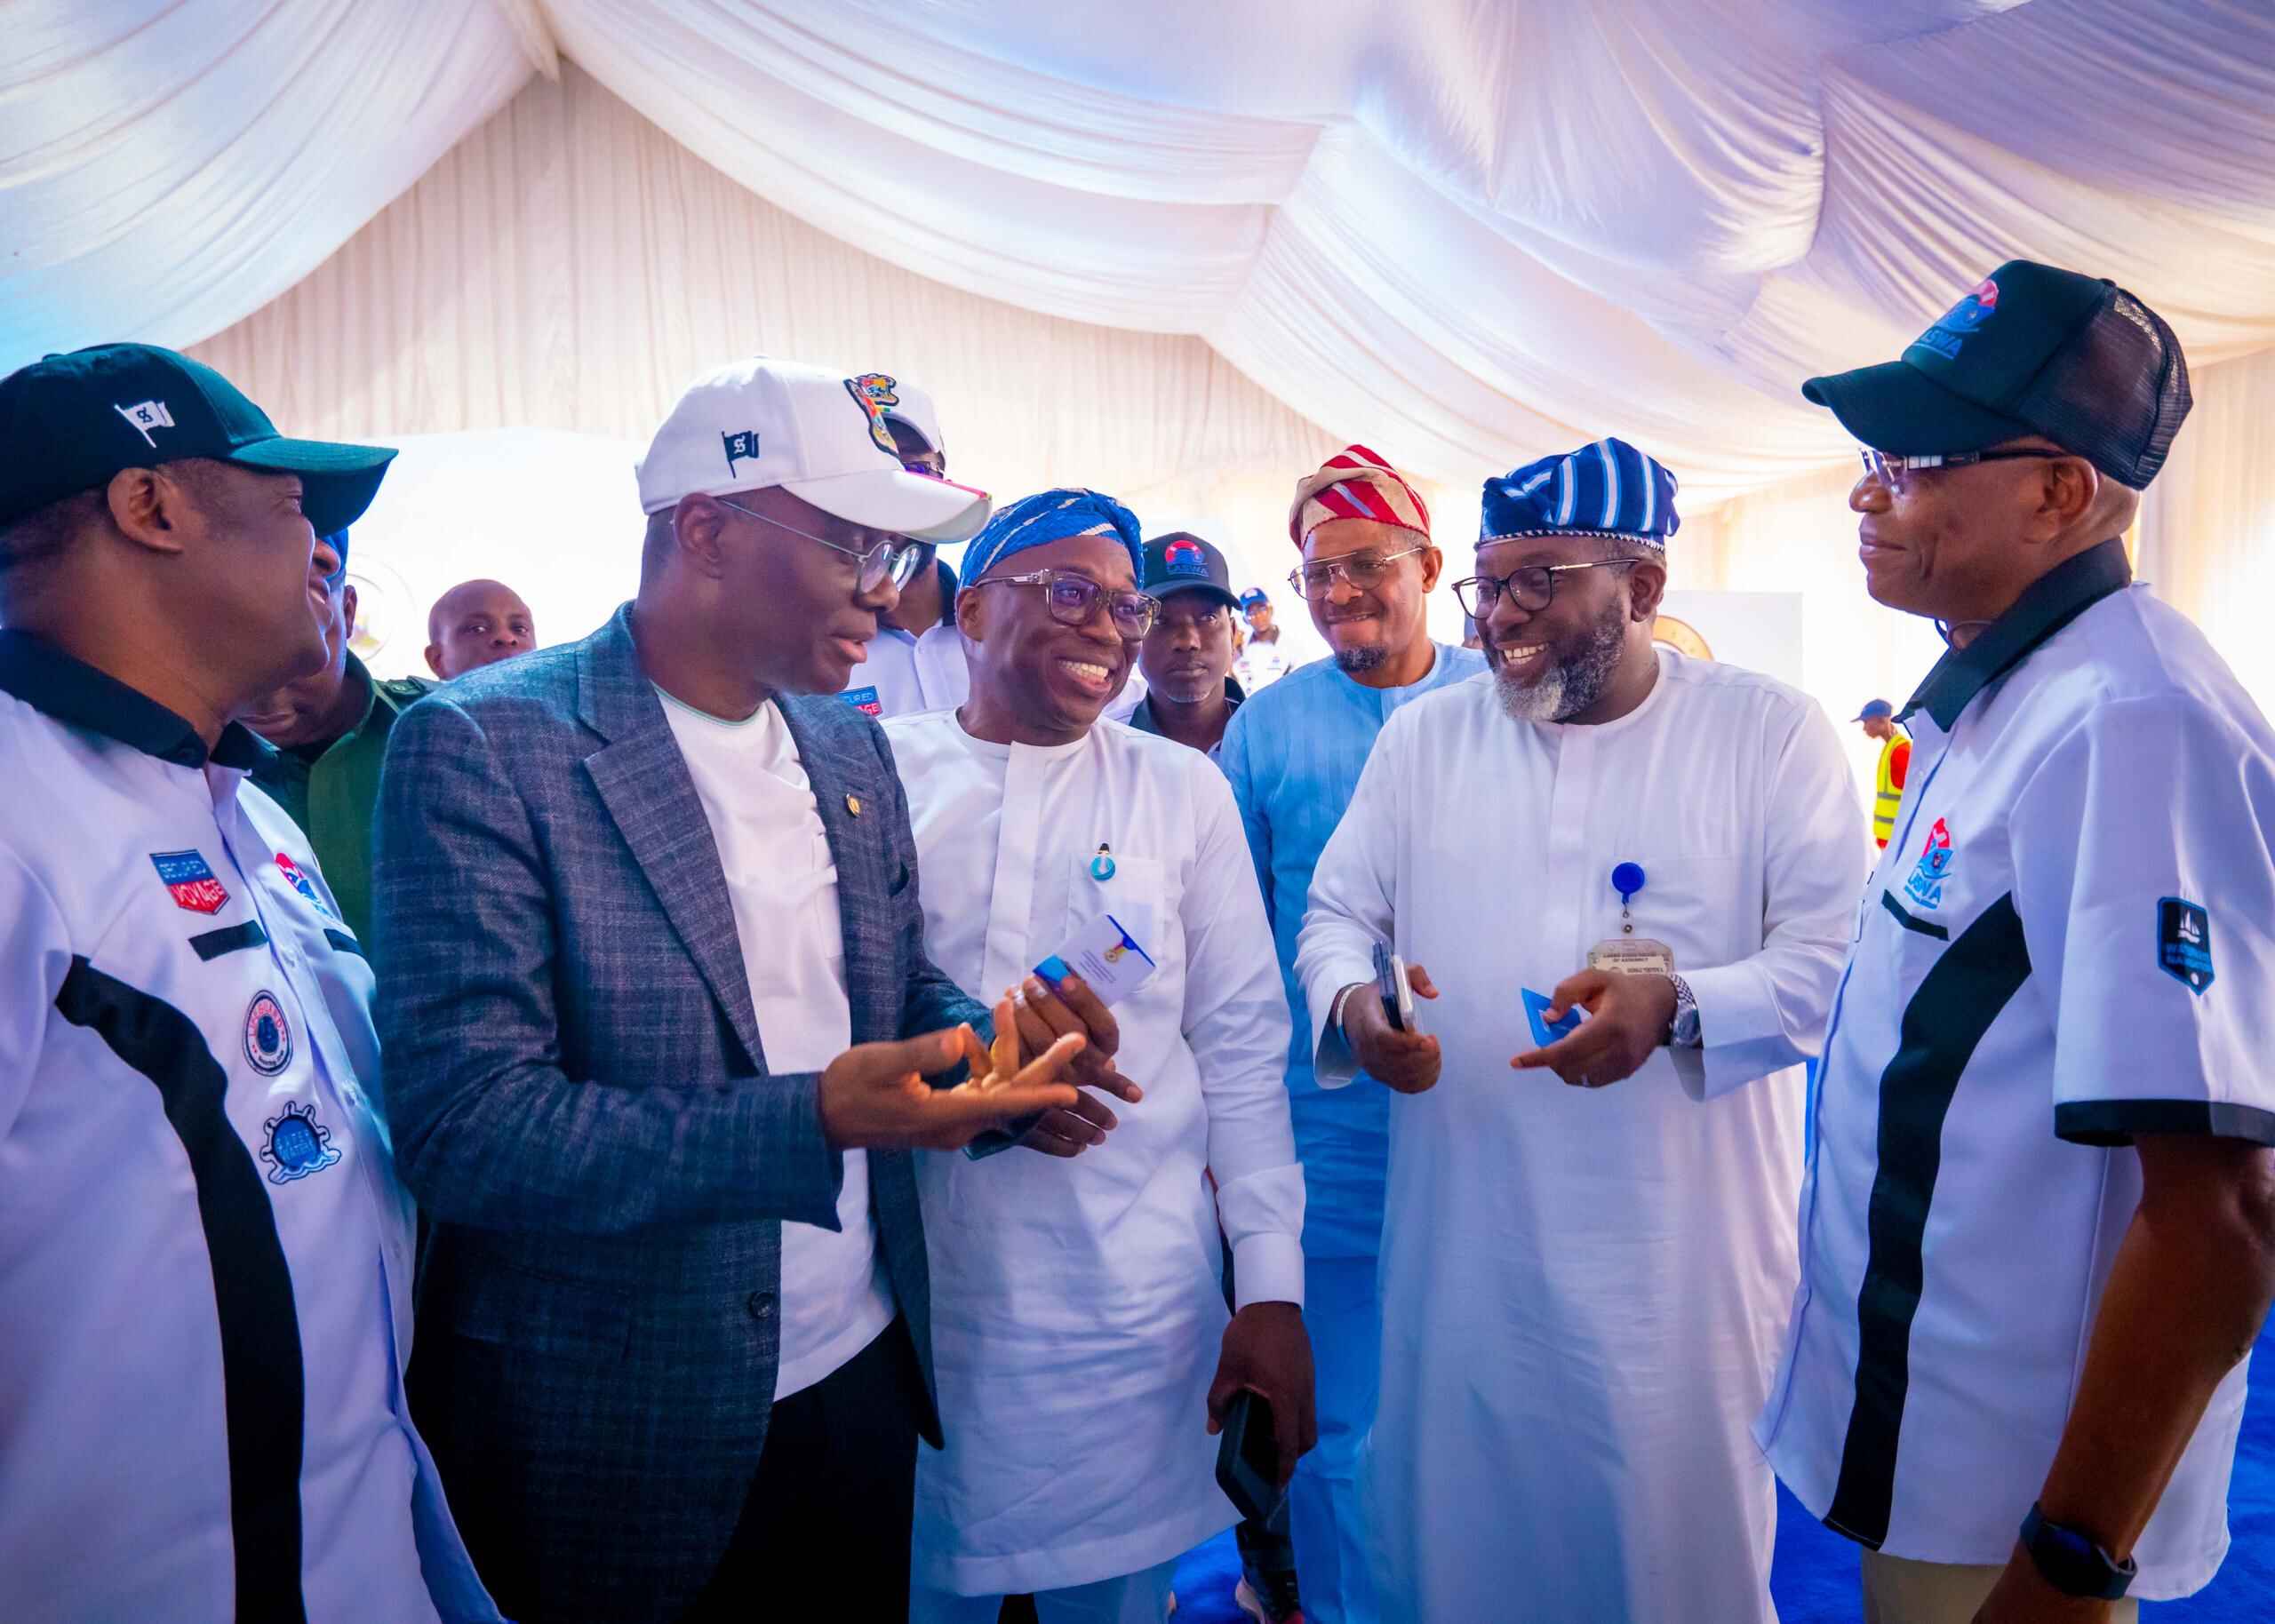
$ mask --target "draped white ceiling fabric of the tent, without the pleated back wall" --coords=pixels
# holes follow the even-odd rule
[[[1709,503],[2007,257],[2275,343],[2266,0],[9,0],[0,371],[198,341],[566,55],[751,191],[1194,332],[1431,478],[1618,430]]]

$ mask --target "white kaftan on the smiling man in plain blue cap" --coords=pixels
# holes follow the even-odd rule
[[[1119,723],[1049,748],[985,744],[956,712],[885,732],[926,948],[965,992],[994,1003],[1099,912],[1160,964],[1115,1005],[1144,1101],[1112,1101],[1106,1144],[919,1158],[946,1449],[917,1465],[915,1574],[1001,1594],[1153,1567],[1235,1519],[1203,1403],[1219,1215],[1240,1303],[1304,1299],[1288,1001],[1233,792]]]

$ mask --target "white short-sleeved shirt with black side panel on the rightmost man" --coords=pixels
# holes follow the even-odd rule
[[[2275,1144],[2275,735],[2107,541],[1929,673],[1818,1078],[1756,1437],[1838,1533],[2004,1563],[2141,1199],[2136,1133]],[[2245,1372],[2134,1549],[2227,1551]]]

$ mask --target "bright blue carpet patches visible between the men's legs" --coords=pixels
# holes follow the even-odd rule
[[[2141,1608],[2143,1624],[2268,1624],[2275,1617],[2275,1328],[2259,1337],[2243,1442],[2227,1492],[2234,1544],[2220,1576],[2186,1601]],[[1176,1624],[1244,1624],[1233,1606],[1240,1553],[1224,1533],[1176,1569]],[[1784,1624],[1854,1624],[1856,1547],[1777,1490],[1770,1594]]]

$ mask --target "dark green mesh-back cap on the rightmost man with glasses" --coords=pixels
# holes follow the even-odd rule
[[[1872,450],[1947,457],[2041,434],[2120,484],[2157,478],[2189,416],[2189,362],[2164,318],[2104,277],[2009,259],[1902,359],[1811,378]]]

